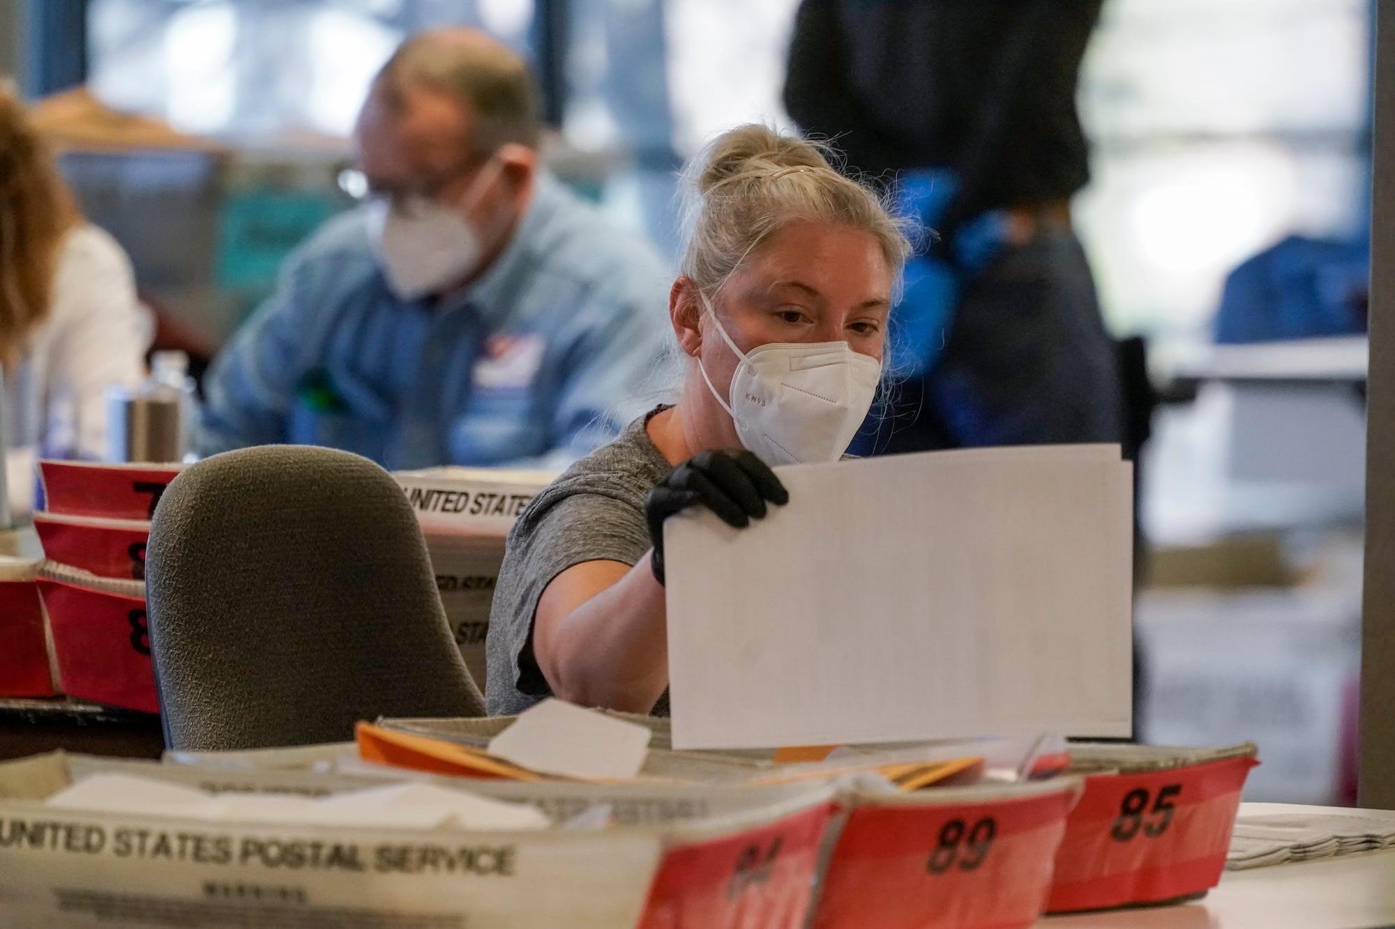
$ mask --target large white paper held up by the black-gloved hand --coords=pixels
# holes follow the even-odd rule
[[[778,469],[744,530],[665,526],[675,748],[1130,732],[1116,446]]]

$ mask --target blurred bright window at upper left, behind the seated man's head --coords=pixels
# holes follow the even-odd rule
[[[91,82],[187,133],[342,139],[405,35],[474,25],[530,52],[533,13],[533,0],[92,0]]]

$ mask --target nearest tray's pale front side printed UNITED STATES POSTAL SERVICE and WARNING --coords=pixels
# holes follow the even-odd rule
[[[658,854],[656,836],[621,830],[438,834],[0,799],[6,926],[610,929],[635,925]]]

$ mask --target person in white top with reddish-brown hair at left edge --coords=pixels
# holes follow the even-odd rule
[[[86,223],[15,93],[0,85],[0,364],[10,499],[33,505],[33,462],[100,459],[103,392],[145,375],[151,321],[131,264]]]

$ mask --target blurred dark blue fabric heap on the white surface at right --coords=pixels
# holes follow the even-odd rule
[[[1370,239],[1289,236],[1226,278],[1215,340],[1272,342],[1366,332]]]

